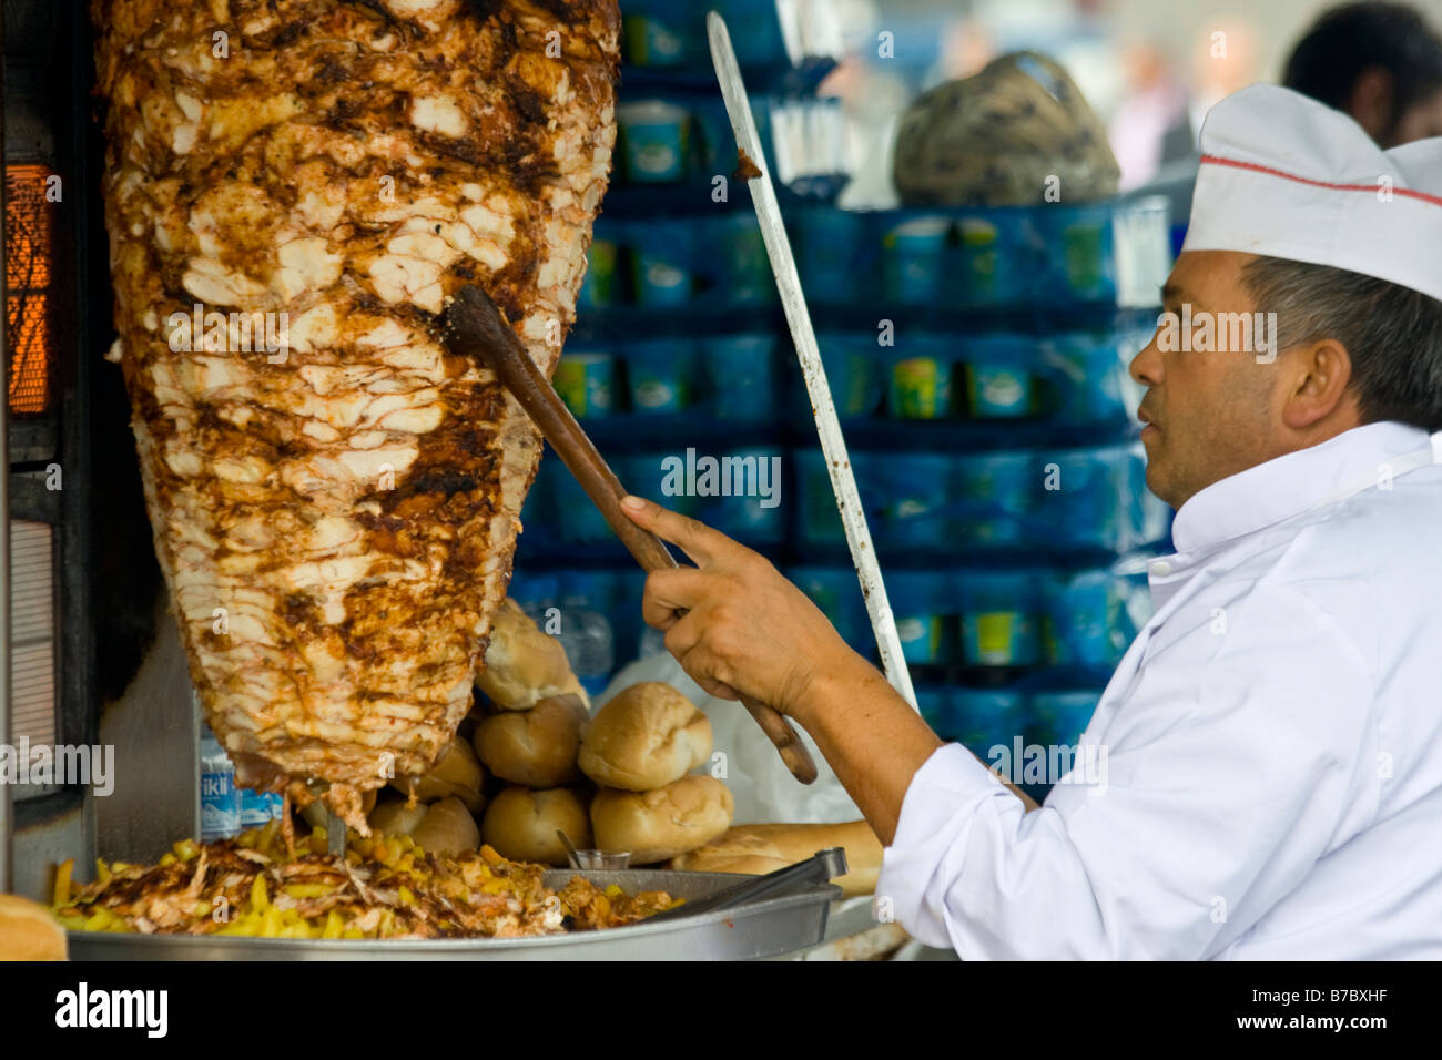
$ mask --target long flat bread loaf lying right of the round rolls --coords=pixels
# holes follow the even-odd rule
[[[668,868],[694,873],[764,875],[805,861],[816,851],[842,847],[846,875],[832,880],[848,894],[871,894],[881,871],[881,841],[865,821],[844,825],[737,825],[705,847],[678,854]]]

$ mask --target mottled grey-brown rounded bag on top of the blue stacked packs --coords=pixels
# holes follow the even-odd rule
[[[893,175],[907,206],[1025,206],[1044,202],[1053,176],[1061,202],[1105,199],[1120,169],[1067,72],[1012,52],[906,110]]]

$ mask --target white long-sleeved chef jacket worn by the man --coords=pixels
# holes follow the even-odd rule
[[[1442,958],[1442,434],[1269,460],[1172,542],[1082,737],[1105,783],[1024,813],[942,747],[878,897],[963,959]]]

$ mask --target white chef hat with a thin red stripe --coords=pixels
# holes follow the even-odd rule
[[[1299,92],[1233,92],[1201,127],[1182,251],[1334,265],[1442,300],[1442,137],[1384,151]]]

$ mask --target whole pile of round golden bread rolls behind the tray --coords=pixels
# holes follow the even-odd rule
[[[486,842],[549,865],[567,864],[564,831],[581,849],[624,851],[646,865],[731,823],[727,786],[692,774],[711,757],[711,723],[671,685],[633,685],[591,718],[561,642],[510,600],[476,685],[457,738],[430,773],[391,785],[368,818],[373,829],[437,854]]]

